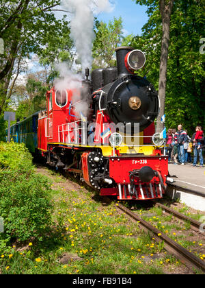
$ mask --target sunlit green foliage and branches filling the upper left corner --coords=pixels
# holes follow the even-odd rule
[[[48,62],[72,58],[68,21],[65,17],[57,19],[54,13],[59,4],[58,0],[1,1],[0,38],[4,53],[0,55],[0,115],[8,105],[23,59],[36,53],[46,67]],[[55,74],[52,68],[48,83]]]

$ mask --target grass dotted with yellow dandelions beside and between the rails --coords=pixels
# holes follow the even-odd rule
[[[123,213],[115,203],[102,206],[100,197],[92,189],[68,189],[65,178],[48,171],[52,176],[51,197],[55,206],[53,232],[44,241],[30,239],[28,243],[14,243],[0,252],[1,274],[164,274],[176,271],[180,262],[163,249],[146,232]],[[56,184],[57,183],[57,184]],[[128,206],[128,204],[127,204]],[[136,207],[136,206],[135,206]],[[174,231],[182,230],[172,223],[172,215],[164,216],[159,207],[143,208],[137,212],[150,224],[167,233],[186,248],[193,245]],[[154,215],[148,216],[147,214]],[[184,229],[189,227],[184,225]],[[29,245],[30,243],[30,245]],[[154,259],[161,254],[161,259]],[[78,261],[61,264],[64,254],[79,256]],[[149,256],[150,261],[145,261]],[[198,256],[202,257],[202,254]],[[153,258],[152,258],[153,257]]]

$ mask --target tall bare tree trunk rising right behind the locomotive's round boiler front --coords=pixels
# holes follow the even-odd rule
[[[159,69],[159,99],[161,108],[156,122],[156,132],[163,130],[163,123],[161,117],[165,114],[165,95],[167,84],[167,60],[169,51],[169,26],[172,14],[174,0],[160,0],[160,12],[163,25],[163,36],[161,41],[161,60]]]

